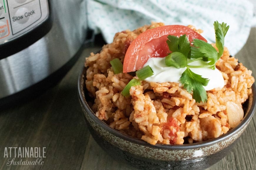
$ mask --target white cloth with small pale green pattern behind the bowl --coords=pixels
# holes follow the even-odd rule
[[[101,32],[107,43],[122,30],[134,30],[152,21],[165,25],[193,25],[215,42],[214,21],[230,26],[225,46],[235,55],[245,45],[256,25],[253,4],[248,0],[88,0],[89,28]]]

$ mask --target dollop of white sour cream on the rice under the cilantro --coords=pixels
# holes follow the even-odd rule
[[[158,82],[158,83],[164,83],[164,82],[177,82],[181,85],[179,79],[182,75],[182,73],[187,69],[187,67],[184,68],[175,68],[175,67],[168,67],[164,63],[164,57],[152,57],[149,58],[149,60],[144,64],[143,67],[149,65],[154,75],[151,77],[148,77],[145,79],[145,81],[148,82]],[[203,61],[195,61],[192,63],[189,63],[189,65],[201,65],[200,62]],[[222,88],[224,86],[224,79],[222,77],[221,72],[215,68],[190,68],[192,72],[201,75],[203,78],[210,79],[207,86],[203,86],[206,91],[212,90],[215,88]]]

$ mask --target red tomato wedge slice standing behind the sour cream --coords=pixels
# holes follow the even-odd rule
[[[135,38],[129,45],[124,57],[123,72],[134,72],[143,67],[151,57],[166,57],[169,47],[166,43],[168,35],[180,37],[186,34],[189,42],[197,38],[207,42],[196,31],[181,25],[161,26],[149,29]]]

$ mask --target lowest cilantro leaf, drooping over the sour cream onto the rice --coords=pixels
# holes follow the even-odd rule
[[[193,91],[193,98],[200,103],[207,101],[207,94],[203,86],[207,86],[209,79],[203,78],[199,74],[195,74],[187,68],[180,77],[181,83],[189,93]]]

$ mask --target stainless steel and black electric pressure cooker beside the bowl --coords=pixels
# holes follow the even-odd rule
[[[72,65],[86,40],[86,9],[86,0],[0,1],[0,104]]]

